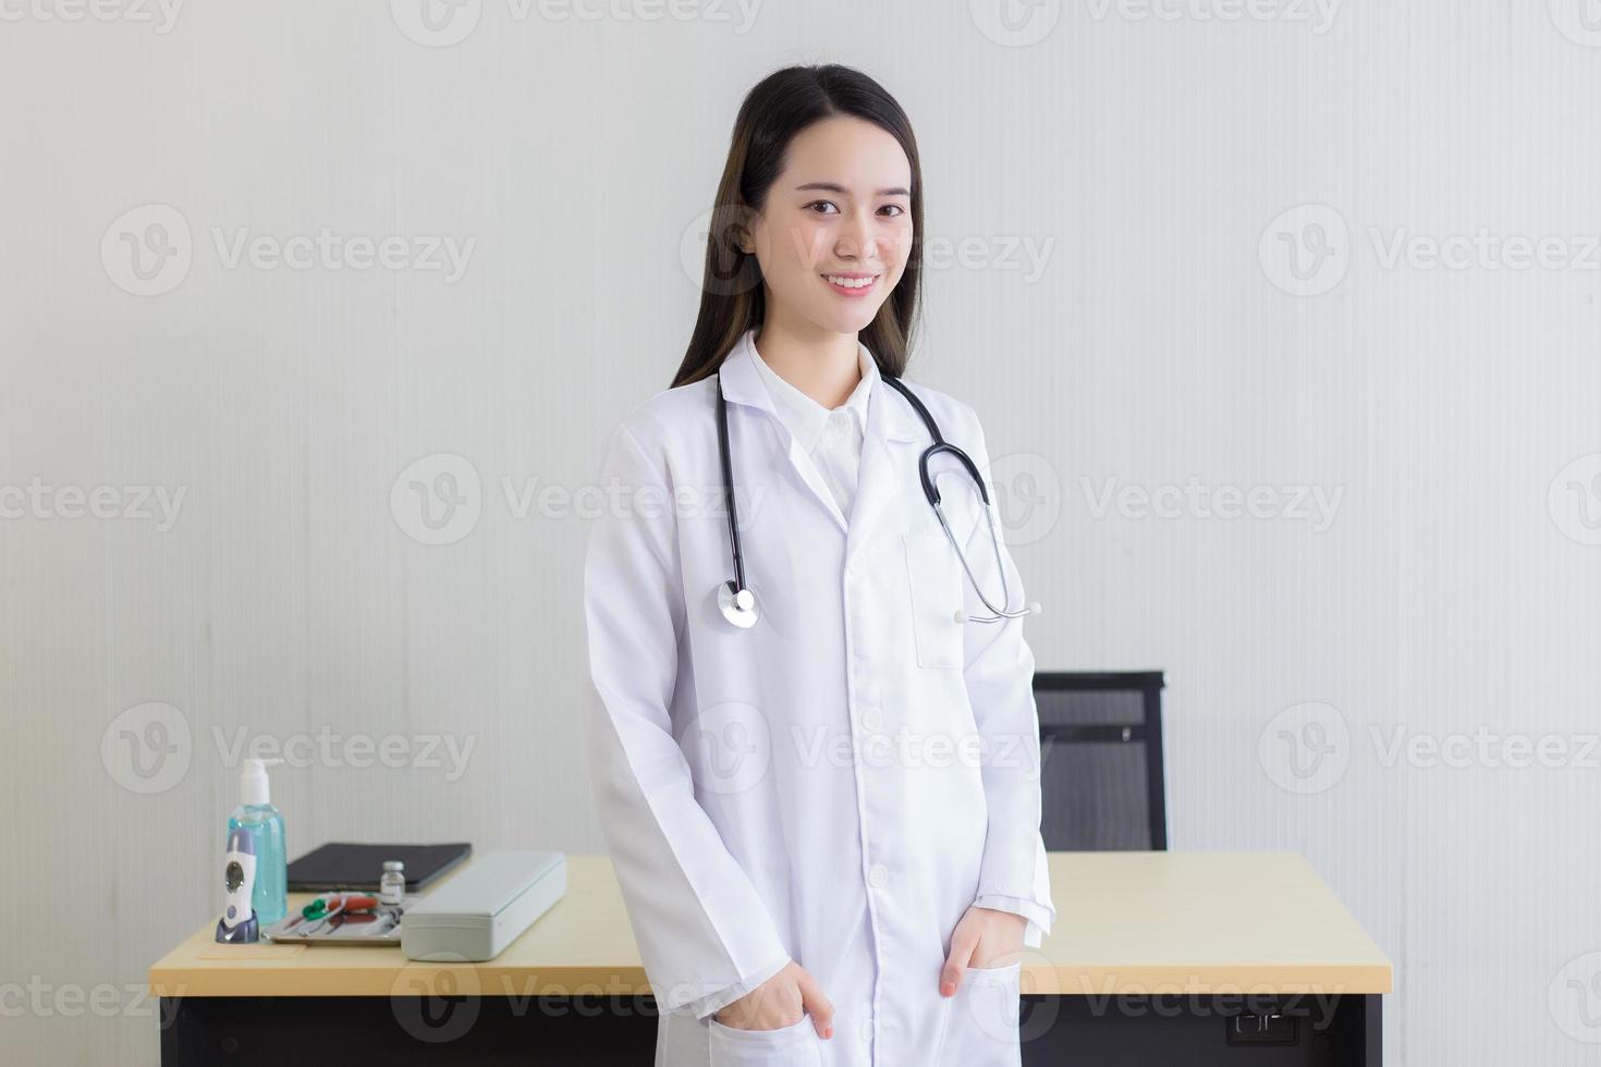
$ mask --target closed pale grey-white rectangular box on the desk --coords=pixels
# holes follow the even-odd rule
[[[562,853],[485,853],[400,921],[408,960],[493,960],[567,893]]]

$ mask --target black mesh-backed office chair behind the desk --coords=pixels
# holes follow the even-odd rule
[[[1167,848],[1162,672],[1036,673],[1045,848]]]

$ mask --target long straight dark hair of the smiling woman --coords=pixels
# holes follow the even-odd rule
[[[922,168],[917,165],[917,141],[906,112],[882,85],[852,67],[825,64],[775,70],[740,106],[708,227],[700,317],[674,386],[716,373],[740,336],[762,325],[762,270],[756,253],[740,250],[741,232],[756,232],[754,219],[783,171],[784,152],[794,136],[834,115],[861,118],[887,131],[900,141],[911,163],[913,242],[906,269],[879,314],[861,331],[861,342],[884,374],[900,378],[906,370],[922,290]]]

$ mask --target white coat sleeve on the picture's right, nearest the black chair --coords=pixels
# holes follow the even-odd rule
[[[978,426],[977,416],[972,426]],[[989,485],[989,453],[981,429],[972,435],[969,454]],[[975,498],[977,502],[977,498]],[[969,531],[964,552],[969,566],[981,582],[985,595],[1002,605],[1002,574],[1012,590],[1012,608],[1026,603],[1023,579],[1007,552],[994,486],[989,485],[989,509],[996,533],[1002,539],[1001,574],[991,547],[989,522],[980,507]],[[972,585],[962,581],[964,606],[969,614],[989,614]],[[973,720],[983,737],[983,782],[989,825],[985,856],[978,873],[978,907],[1013,912],[1028,920],[1023,944],[1037,949],[1057,909],[1050,899],[1050,870],[1045,864],[1045,841],[1039,832],[1039,713],[1034,707],[1034,654],[1023,640],[1023,619],[964,624],[964,673]]]

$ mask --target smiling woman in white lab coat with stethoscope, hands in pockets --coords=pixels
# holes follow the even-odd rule
[[[858,70],[778,70],[716,205],[688,352],[610,438],[584,565],[656,1064],[1018,1064],[1021,949],[1055,918],[1037,606],[972,408],[901,381],[911,125]]]

